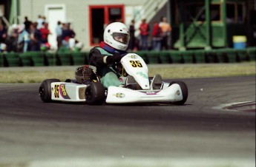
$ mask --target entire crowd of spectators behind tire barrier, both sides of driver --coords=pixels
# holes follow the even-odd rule
[[[151,30],[152,28],[152,30]],[[136,36],[135,32],[140,31]],[[166,17],[160,21],[154,21],[152,25],[148,24],[143,18],[140,27],[135,27],[135,21],[132,20],[129,26],[130,41],[128,51],[137,50],[168,50],[170,49],[171,25],[168,24]],[[56,24],[56,43],[57,50],[65,48],[81,49],[83,44],[76,41],[76,33],[70,28],[70,23],[58,21]],[[7,28],[0,19],[0,52],[27,52],[49,50],[48,35],[52,34],[48,28],[45,16],[40,16],[36,21],[30,21],[27,16],[24,17],[22,24],[13,24]]]

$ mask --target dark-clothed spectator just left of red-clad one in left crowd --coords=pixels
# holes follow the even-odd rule
[[[30,25],[30,50],[40,51],[42,33],[37,28],[37,22]]]

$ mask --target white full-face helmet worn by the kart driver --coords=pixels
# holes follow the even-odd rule
[[[128,47],[129,31],[125,24],[114,22],[104,30],[104,42],[116,50],[125,51]]]

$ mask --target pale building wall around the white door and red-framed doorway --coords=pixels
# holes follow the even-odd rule
[[[90,50],[89,44],[89,5],[104,4],[124,4],[125,24],[129,24],[132,18],[132,8],[142,6],[146,0],[20,0],[20,21],[24,21],[24,16],[28,16],[31,21],[36,21],[39,15],[46,15],[47,5],[63,4],[65,6],[66,21],[71,23],[71,27],[76,33],[76,39],[85,45],[84,50]],[[126,19],[128,18],[128,19]],[[47,18],[46,18],[47,19]]]

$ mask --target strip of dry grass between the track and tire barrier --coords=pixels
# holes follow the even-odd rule
[[[70,69],[69,69],[70,68]],[[68,70],[1,70],[0,83],[41,83],[48,78],[58,78],[65,81],[67,78],[74,78],[76,67],[68,67]],[[240,64],[165,64],[163,66],[150,65],[148,75],[160,74],[166,78],[206,78],[255,75],[255,62]]]

